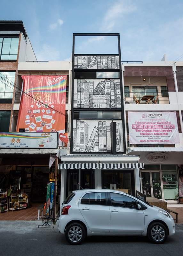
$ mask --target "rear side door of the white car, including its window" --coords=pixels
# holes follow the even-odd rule
[[[86,193],[79,203],[79,210],[93,233],[109,233],[110,211],[105,192]]]

